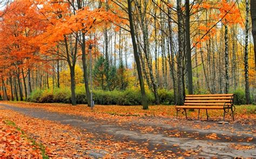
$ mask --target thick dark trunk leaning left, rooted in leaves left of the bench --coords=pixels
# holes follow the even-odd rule
[[[132,19],[132,4],[131,4],[131,0],[127,0],[127,2],[128,2],[128,13],[129,13],[130,28],[131,28],[130,34],[132,38],[133,54],[134,54],[134,59],[135,59],[137,71],[138,71],[140,92],[142,93],[142,106],[144,110],[147,110],[149,109],[149,106],[147,104],[147,97],[146,97],[146,92],[144,88],[143,76],[142,76],[142,68],[140,66],[137,43],[135,39],[133,19]]]

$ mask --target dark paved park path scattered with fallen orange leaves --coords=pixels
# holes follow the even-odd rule
[[[185,157],[256,157],[256,121],[223,125],[217,124],[216,121],[194,122],[164,117],[141,117],[125,122],[60,114],[10,104],[0,106],[1,109],[12,110],[28,117],[85,129],[86,132],[96,134],[96,140],[136,143],[138,147],[146,147],[156,155],[165,151],[165,155],[169,152],[170,156]],[[120,154],[120,151],[134,154],[133,150],[120,149],[117,154]],[[86,152],[95,158],[103,157],[107,153],[104,149],[97,150],[97,153],[93,150]],[[135,153],[132,157],[134,156],[145,157],[143,153]]]

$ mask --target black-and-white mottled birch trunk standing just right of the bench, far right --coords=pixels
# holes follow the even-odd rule
[[[250,85],[248,76],[248,37],[249,37],[249,0],[246,0],[246,17],[245,17],[245,98],[246,104],[250,104]]]

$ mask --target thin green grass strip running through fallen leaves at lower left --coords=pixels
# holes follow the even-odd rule
[[[41,154],[42,154],[43,159],[48,159],[48,158],[49,158],[49,156],[46,155],[46,153],[45,153],[45,146],[44,146],[42,143],[37,143],[35,139],[26,136],[25,132],[24,132],[21,128],[19,128],[19,127],[15,124],[14,121],[11,121],[11,120],[4,120],[4,123],[5,123],[6,125],[15,127],[15,128],[17,129],[17,131],[19,131],[19,132],[22,133],[22,137],[23,137],[23,138],[28,139],[29,141],[32,142],[32,145],[33,145],[33,146],[38,147],[39,150],[41,151]]]

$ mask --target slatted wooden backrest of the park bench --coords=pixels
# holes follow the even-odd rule
[[[215,95],[186,95],[186,106],[226,106],[233,105],[234,94],[215,94]]]

